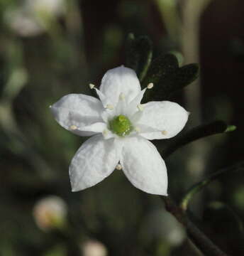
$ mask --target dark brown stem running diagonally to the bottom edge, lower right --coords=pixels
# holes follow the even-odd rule
[[[187,230],[189,238],[194,242],[194,244],[207,256],[228,256],[225,252],[222,252],[214,243],[206,237],[204,233],[199,230],[199,228],[192,223],[187,217],[186,212],[182,210],[180,206],[170,198],[170,196],[160,196],[162,201],[165,202],[165,209],[174,215],[174,217],[182,223]]]

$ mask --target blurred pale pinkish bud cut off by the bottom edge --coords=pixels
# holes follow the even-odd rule
[[[88,240],[82,244],[82,255],[84,256],[106,256],[106,247],[99,241]]]

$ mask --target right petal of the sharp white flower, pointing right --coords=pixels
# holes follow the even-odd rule
[[[140,135],[146,139],[174,137],[184,128],[189,116],[183,107],[170,101],[148,102],[143,107],[144,110],[138,120],[138,125],[143,124],[155,129],[155,132],[142,130]]]

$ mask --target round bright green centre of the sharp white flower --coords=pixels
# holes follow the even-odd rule
[[[113,117],[113,119],[109,121],[109,129],[111,132],[123,137],[128,135],[133,130],[133,126],[128,117],[120,114],[116,117]]]

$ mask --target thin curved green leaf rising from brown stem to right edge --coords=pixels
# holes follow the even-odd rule
[[[244,170],[244,161],[240,161],[238,164],[234,164],[233,166],[229,166],[225,169],[221,169],[220,171],[216,171],[214,174],[211,174],[209,177],[204,178],[204,180],[200,181],[199,183],[196,183],[194,186],[192,186],[192,188],[189,188],[187,193],[185,193],[184,196],[182,197],[182,210],[187,210],[189,201],[194,197],[196,193],[201,191],[202,188],[211,183],[211,181],[216,180],[216,178],[219,178],[223,174],[226,174],[226,172],[240,170]]]

